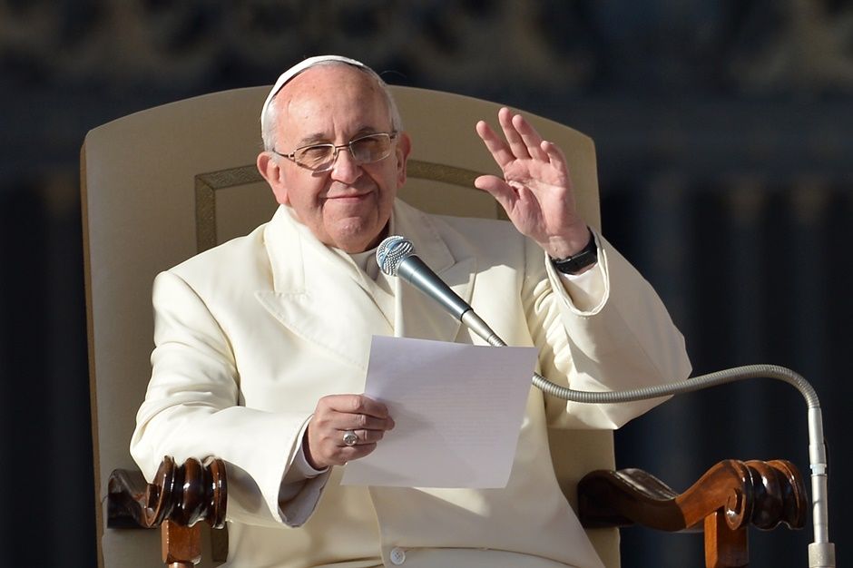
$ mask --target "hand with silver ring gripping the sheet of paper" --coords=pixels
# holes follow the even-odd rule
[[[376,449],[393,427],[387,406],[376,400],[363,395],[322,397],[306,430],[305,456],[317,469],[344,465]],[[345,441],[348,432],[356,435],[355,443]]]

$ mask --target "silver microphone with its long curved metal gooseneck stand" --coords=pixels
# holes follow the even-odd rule
[[[377,264],[388,276],[398,276],[436,300],[454,318],[460,320],[477,336],[494,347],[505,347],[506,343],[476,315],[465,300],[438,278],[427,264],[415,254],[411,240],[391,236],[377,248]],[[804,377],[787,367],[777,365],[747,365],[692,377],[675,383],[652,387],[632,388],[607,392],[574,390],[562,387],[538,373],[534,373],[533,384],[552,397],[584,404],[618,404],[649,398],[681,395],[708,387],[716,387],[748,378],[774,378],[797,388],[806,400],[809,427],[809,466],[811,469],[812,524],[815,541],[809,544],[809,568],[834,568],[835,545],[829,542],[828,498],[827,498],[827,454],[823,436],[823,416],[818,394]]]

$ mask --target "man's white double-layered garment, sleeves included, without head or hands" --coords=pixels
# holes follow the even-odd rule
[[[599,289],[579,299],[506,221],[397,201],[392,230],[506,343],[539,348],[554,382],[610,390],[690,374],[661,300],[601,236]],[[227,565],[601,566],[557,485],[547,426],[612,429],[660,399],[580,405],[532,387],[504,489],[341,486],[340,467],[305,478],[291,465],[319,397],[363,392],[371,336],[481,339],[407,284],[368,276],[285,206],[250,235],[163,272],[153,302],[153,372],[132,455],[149,479],[163,455],[225,460]]]

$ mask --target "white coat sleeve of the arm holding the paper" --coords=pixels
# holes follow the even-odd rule
[[[249,524],[304,523],[328,472],[282,480],[296,458],[310,414],[240,405],[239,369],[229,338],[180,277],[154,281],[152,379],[137,414],[131,453],[149,479],[164,455],[179,462],[216,455],[229,475],[230,519]],[[289,497],[279,503],[279,493]]]

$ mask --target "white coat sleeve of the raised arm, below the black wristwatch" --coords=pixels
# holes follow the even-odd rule
[[[597,302],[580,306],[564,290],[562,275],[531,250],[525,290],[527,319],[542,348],[544,377],[577,390],[623,390],[669,383],[691,373],[681,333],[652,286],[613,246],[596,235],[602,279]],[[531,246],[531,249],[535,249]],[[541,267],[544,266],[544,278]],[[586,275],[584,275],[586,276]],[[587,405],[547,397],[549,423],[560,427],[617,428],[665,398]]]

